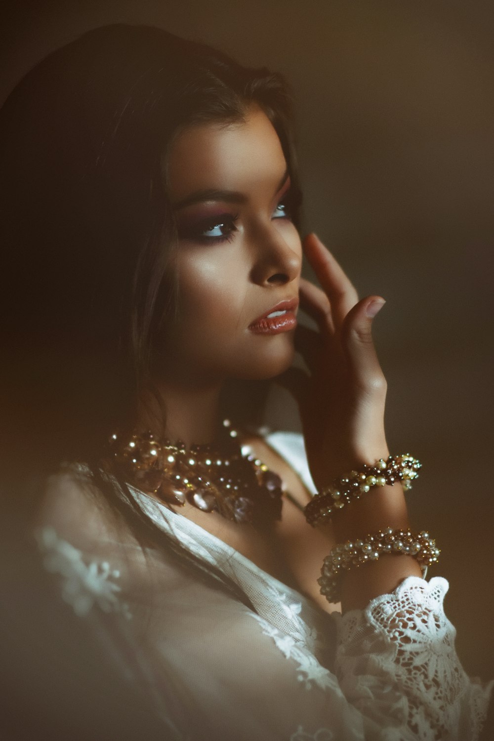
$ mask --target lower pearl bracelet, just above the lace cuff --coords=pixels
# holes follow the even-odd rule
[[[425,531],[413,534],[410,530],[385,528],[353,542],[347,540],[346,543],[336,545],[324,559],[321,576],[317,581],[321,586],[321,594],[328,602],[339,602],[341,578],[344,571],[353,566],[377,561],[382,554],[413,556],[425,578],[427,567],[437,562],[439,553],[435,540]]]

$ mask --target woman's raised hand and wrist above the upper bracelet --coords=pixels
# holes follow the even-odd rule
[[[321,288],[301,279],[301,308],[318,326],[299,325],[296,349],[310,374],[290,368],[279,381],[296,396],[307,458],[318,488],[334,476],[389,454],[384,433],[386,380],[371,327],[380,296],[358,300],[336,259],[311,233],[304,252]]]

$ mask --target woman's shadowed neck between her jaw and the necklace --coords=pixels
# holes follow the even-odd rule
[[[158,386],[159,403],[155,397],[143,399],[138,409],[138,425],[171,442],[181,439],[187,447],[194,443],[213,442],[221,424],[220,393],[221,385],[161,382]],[[164,425],[160,405],[164,408]]]

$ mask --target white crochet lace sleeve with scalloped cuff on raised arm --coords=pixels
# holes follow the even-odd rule
[[[410,576],[364,611],[338,616],[336,671],[348,700],[377,722],[394,707],[424,741],[477,738],[492,686],[461,667],[447,589],[441,577]]]

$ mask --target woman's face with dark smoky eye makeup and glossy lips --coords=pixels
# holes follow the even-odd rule
[[[278,375],[293,361],[302,254],[273,125],[255,108],[244,123],[190,127],[167,176],[178,223],[173,370],[205,382]],[[255,323],[280,302],[293,302],[288,313]]]

